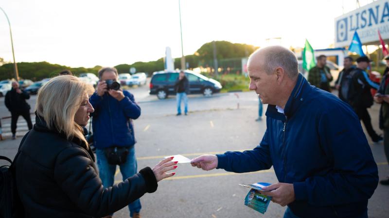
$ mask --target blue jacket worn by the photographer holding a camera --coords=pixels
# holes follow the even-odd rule
[[[130,119],[137,119],[141,108],[135,103],[134,95],[125,90],[123,93],[121,101],[108,93],[101,97],[95,92],[90,96],[90,104],[95,110],[92,113],[92,129],[96,148],[130,147],[136,143]]]

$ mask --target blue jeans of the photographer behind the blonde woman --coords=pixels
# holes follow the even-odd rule
[[[106,188],[113,186],[115,180],[116,165],[108,164],[106,155],[104,154],[104,149],[96,149],[96,156],[97,166],[99,167],[100,179],[103,182],[103,186]],[[129,148],[127,161],[124,164],[119,165],[119,167],[120,172],[123,176],[123,181],[137,173],[138,164],[135,158],[135,146]],[[131,217],[134,213],[139,213],[141,211],[141,208],[141,201],[139,199],[128,204],[128,209],[130,210]],[[110,215],[112,216],[112,214]]]

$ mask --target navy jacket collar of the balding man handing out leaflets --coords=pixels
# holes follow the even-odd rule
[[[274,119],[282,121],[285,121],[287,118],[293,116],[293,114],[303,103],[304,98],[302,95],[308,87],[308,81],[301,74],[299,74],[296,85],[293,88],[288,101],[286,102],[285,108],[283,109],[284,113],[282,114],[278,112],[275,105],[269,105],[266,110],[266,116],[270,116]]]

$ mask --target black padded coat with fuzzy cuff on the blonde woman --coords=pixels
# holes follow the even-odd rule
[[[18,194],[26,218],[104,217],[157,190],[150,168],[104,188],[93,153],[81,140],[66,140],[36,116],[15,157]]]

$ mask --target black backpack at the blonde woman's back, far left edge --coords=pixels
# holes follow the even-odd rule
[[[5,156],[0,156],[0,160],[10,163],[10,165],[0,166],[0,218],[23,217],[23,206],[16,189],[12,161]]]

